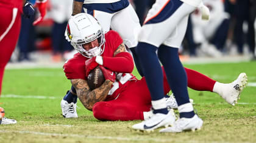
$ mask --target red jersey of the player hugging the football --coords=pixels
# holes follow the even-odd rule
[[[113,57],[116,49],[123,43],[123,39],[117,32],[110,30],[105,34],[105,50],[101,56]],[[63,66],[66,78],[68,79],[84,79],[85,77],[85,61],[88,58],[77,53],[72,59],[69,59]],[[116,81],[112,84],[112,88],[108,92],[107,101],[115,99],[118,96],[121,88],[124,87],[130,80],[137,80],[135,76],[130,73],[116,73]]]

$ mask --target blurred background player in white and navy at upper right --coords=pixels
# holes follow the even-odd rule
[[[211,19],[201,21],[201,12],[191,14],[194,41],[201,44],[200,48],[208,56],[221,56],[229,30],[229,13],[224,10],[222,0],[204,0],[204,5],[210,9]]]

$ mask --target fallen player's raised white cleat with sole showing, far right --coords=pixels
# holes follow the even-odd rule
[[[240,73],[238,78],[231,82],[230,84],[224,84],[221,93],[219,95],[225,99],[229,104],[237,104],[238,99],[240,99],[240,93],[244,90],[247,84],[246,73]]]

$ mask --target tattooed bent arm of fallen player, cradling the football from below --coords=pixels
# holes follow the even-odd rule
[[[107,98],[108,91],[113,84],[112,81],[106,80],[101,87],[90,90],[87,81],[84,79],[71,79],[71,84],[76,88],[77,97],[88,110],[93,110],[96,102],[104,101]]]

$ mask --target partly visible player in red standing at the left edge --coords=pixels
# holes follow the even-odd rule
[[[41,16],[34,22],[37,25],[46,15],[46,1],[37,0],[36,5]],[[2,78],[4,76],[4,68],[15,49],[16,42],[20,35],[21,15],[27,18],[34,15],[34,8],[29,1],[26,0],[1,0],[0,1],[0,96],[2,87]],[[0,124],[16,124],[15,120],[0,118]]]

